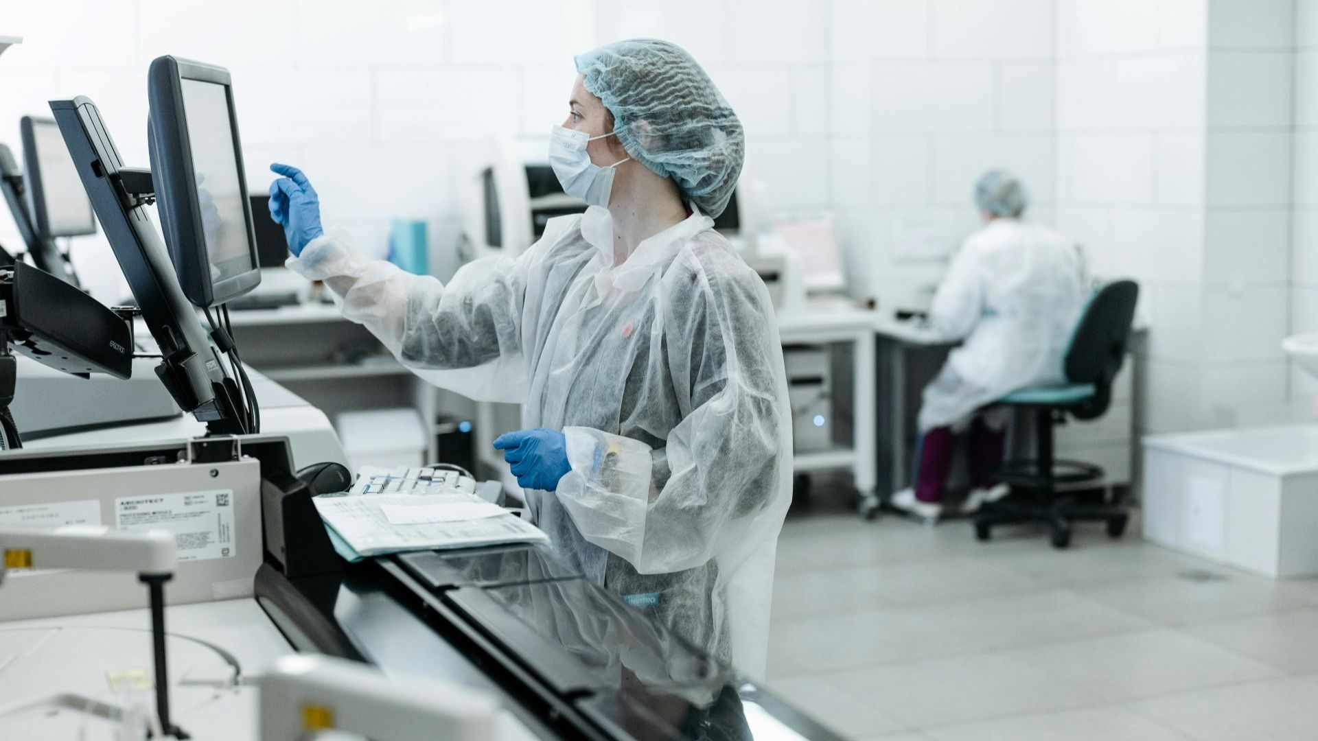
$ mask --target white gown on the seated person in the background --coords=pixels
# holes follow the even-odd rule
[[[1065,382],[1062,359],[1089,294],[1083,254],[1062,235],[1020,219],[971,235],[929,310],[938,334],[965,343],[925,388],[920,430],[958,426],[1025,386]]]

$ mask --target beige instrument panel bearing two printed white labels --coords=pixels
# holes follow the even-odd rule
[[[107,434],[107,436],[109,436]],[[179,443],[182,458],[159,459],[158,446],[116,448],[133,465],[13,472],[0,476],[0,527],[86,525],[123,531],[166,530],[179,539],[171,604],[253,595],[261,566],[261,469],[227,438]],[[61,456],[95,461],[104,442],[63,448]],[[214,456],[214,459],[211,458]],[[53,458],[53,456],[51,456]],[[217,460],[215,460],[217,459]],[[82,464],[79,464],[82,465]],[[146,607],[128,574],[84,570],[14,579],[0,600],[0,620],[80,614]]]

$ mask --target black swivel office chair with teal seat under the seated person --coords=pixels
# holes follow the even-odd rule
[[[1046,523],[1057,548],[1070,545],[1074,521],[1104,521],[1112,538],[1126,531],[1130,516],[1124,502],[1087,504],[1066,493],[1098,481],[1103,469],[1089,463],[1057,460],[1053,425],[1065,423],[1068,415],[1094,419],[1107,411],[1112,401],[1112,378],[1126,357],[1139,293],[1133,281],[1115,281],[1094,295],[1066,348],[1068,384],[1020,389],[998,402],[1035,413],[1036,458],[1010,461],[994,475],[1011,487],[1011,494],[985,505],[975,516],[978,539],[987,541],[995,525],[1017,522]],[[1065,489],[1060,492],[1060,488]]]

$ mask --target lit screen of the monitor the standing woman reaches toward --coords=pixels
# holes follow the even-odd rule
[[[211,264],[211,282],[216,283],[256,269],[240,186],[243,174],[229,125],[225,86],[183,78],[182,87],[202,233]]]

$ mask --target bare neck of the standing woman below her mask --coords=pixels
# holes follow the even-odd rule
[[[642,241],[687,220],[687,207],[676,183],[635,161],[622,167],[629,171],[617,173],[609,199],[614,265],[622,265]]]

